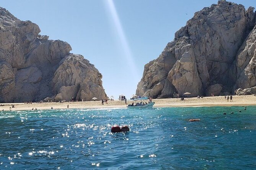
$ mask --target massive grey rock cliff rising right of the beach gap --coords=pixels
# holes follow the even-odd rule
[[[145,65],[136,95],[221,95],[256,85],[256,13],[218,1],[194,14],[161,55]]]

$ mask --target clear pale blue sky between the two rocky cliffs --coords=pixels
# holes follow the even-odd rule
[[[232,2],[256,7],[255,0]],[[0,0],[0,6],[41,35],[68,42],[103,75],[108,96],[135,94],[144,65],[156,59],[174,33],[217,0]]]

